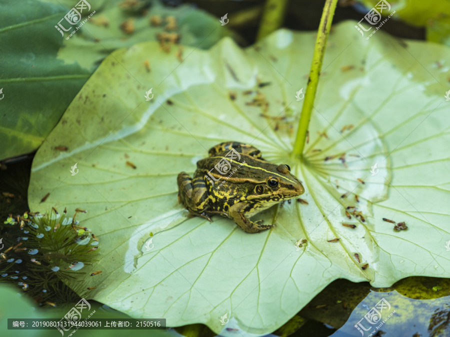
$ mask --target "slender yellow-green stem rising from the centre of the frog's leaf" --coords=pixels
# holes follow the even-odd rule
[[[314,104],[315,92],[317,91],[318,78],[322,68],[323,55],[325,53],[326,41],[328,39],[331,21],[333,20],[334,10],[337,0],[326,0],[323,7],[322,17],[320,19],[315,40],[314,54],[312,56],[311,70],[309,71],[308,84],[304,94],[303,107],[301,109],[300,120],[298,121],[297,135],[295,137],[294,148],[291,157],[301,157],[306,141],[309,120]]]

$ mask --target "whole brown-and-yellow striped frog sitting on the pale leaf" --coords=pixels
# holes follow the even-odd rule
[[[177,185],[178,203],[191,216],[212,222],[210,217],[221,215],[246,233],[274,226],[249,220],[253,215],[304,193],[289,165],[270,163],[254,146],[235,141],[211,147],[208,157],[197,161],[193,177],[180,172]]]

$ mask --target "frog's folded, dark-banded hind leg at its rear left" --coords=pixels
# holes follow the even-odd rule
[[[180,172],[176,178],[178,184],[178,202],[181,202],[187,210],[196,216],[211,219],[203,212],[208,207],[208,191],[202,176],[190,176],[186,172]]]

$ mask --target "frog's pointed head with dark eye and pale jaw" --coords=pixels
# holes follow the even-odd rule
[[[247,196],[247,200],[277,203],[304,193],[303,185],[290,173],[288,165],[273,164],[273,169],[267,172],[264,178],[264,181],[254,185],[254,190]]]

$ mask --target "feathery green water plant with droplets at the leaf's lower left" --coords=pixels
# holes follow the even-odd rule
[[[39,306],[64,306],[89,292],[75,281],[84,265],[97,261],[98,239],[73,217],[55,208],[25,212],[0,223],[0,282],[19,287]],[[64,281],[64,282],[62,282]]]

